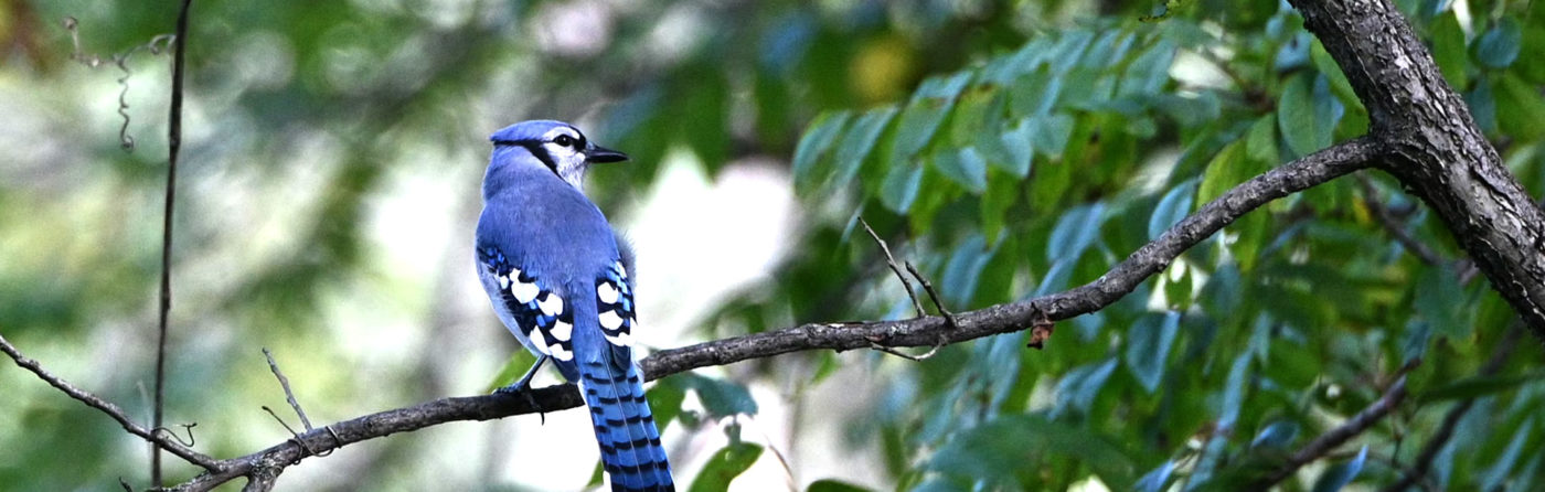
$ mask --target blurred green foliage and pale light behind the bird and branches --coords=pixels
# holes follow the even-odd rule
[[[1537,196],[1545,6],[1397,3]],[[142,421],[170,88],[153,40],[178,5],[0,3],[0,333]],[[1217,0],[196,2],[167,423],[219,458],[287,438],[261,410],[294,420],[263,347],[317,424],[519,375],[471,231],[487,136],[524,119],[633,157],[589,194],[638,251],[650,349],[913,316],[859,214],[955,310],[1092,281],[1366,131],[1301,25]],[[1421,398],[1284,487],[1390,483],[1465,406],[1426,486],[1533,489],[1540,353],[1497,352],[1511,310],[1462,258],[1397,184],[1349,177],[1043,352],[1018,333],[921,362],[796,353],[650,398],[678,483],[709,490],[1238,489],[1423,359]],[[111,420],[19,369],[0,390],[0,489],[148,484],[147,446]],[[453,423],[306,460],[280,489],[573,490],[596,455],[582,412]],[[170,483],[195,473],[167,463]]]

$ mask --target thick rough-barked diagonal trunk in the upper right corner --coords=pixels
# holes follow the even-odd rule
[[[1367,108],[1377,165],[1443,219],[1503,299],[1545,338],[1545,213],[1502,165],[1387,0],[1290,0]]]

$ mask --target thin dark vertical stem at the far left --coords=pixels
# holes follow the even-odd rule
[[[182,0],[178,12],[176,51],[171,54],[171,110],[167,125],[167,207],[161,217],[161,315],[156,322],[156,401],[151,427],[161,427],[165,413],[167,384],[167,315],[171,312],[171,210],[178,191],[178,151],[182,150],[182,66],[188,45],[188,8]],[[161,449],[150,446],[150,486],[161,487]]]

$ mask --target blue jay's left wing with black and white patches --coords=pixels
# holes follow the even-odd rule
[[[564,378],[575,381],[575,312],[556,282],[533,276],[496,247],[477,250],[479,276],[494,312],[525,349],[552,356]]]

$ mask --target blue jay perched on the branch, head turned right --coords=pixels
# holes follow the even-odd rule
[[[582,193],[590,163],[627,156],[552,120],[521,122],[491,140],[477,276],[499,321],[536,355],[501,392],[528,390],[552,359],[584,393],[612,490],[674,490],[633,364],[632,254]]]

